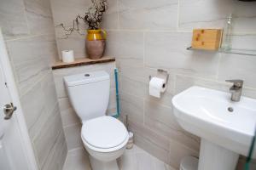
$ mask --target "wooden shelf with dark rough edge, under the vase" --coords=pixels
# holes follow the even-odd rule
[[[113,61],[115,61],[115,58],[113,58],[113,57],[102,57],[102,59],[89,59],[89,58],[75,59],[75,61],[72,63],[64,63],[62,61],[58,61],[54,65],[52,65],[52,70],[75,67],[75,66],[82,66],[82,65],[94,65],[94,64],[98,64],[98,63],[108,63],[108,62],[113,62]]]

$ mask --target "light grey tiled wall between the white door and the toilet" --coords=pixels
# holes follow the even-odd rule
[[[0,26],[38,169],[61,170],[67,144],[50,69],[57,48],[49,0],[1,1]]]

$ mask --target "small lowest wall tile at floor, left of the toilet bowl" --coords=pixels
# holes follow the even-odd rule
[[[67,141],[67,150],[84,147],[83,141],[81,139],[81,127],[82,125],[80,123],[73,126],[64,127],[64,133]]]

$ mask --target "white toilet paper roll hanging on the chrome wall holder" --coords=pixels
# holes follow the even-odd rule
[[[166,80],[152,77],[149,82],[149,95],[160,98],[160,94],[166,91]]]

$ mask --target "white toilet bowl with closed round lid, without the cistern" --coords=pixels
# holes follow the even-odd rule
[[[122,156],[129,139],[122,122],[101,116],[83,123],[81,138],[90,154],[94,170],[118,170],[116,159]]]

